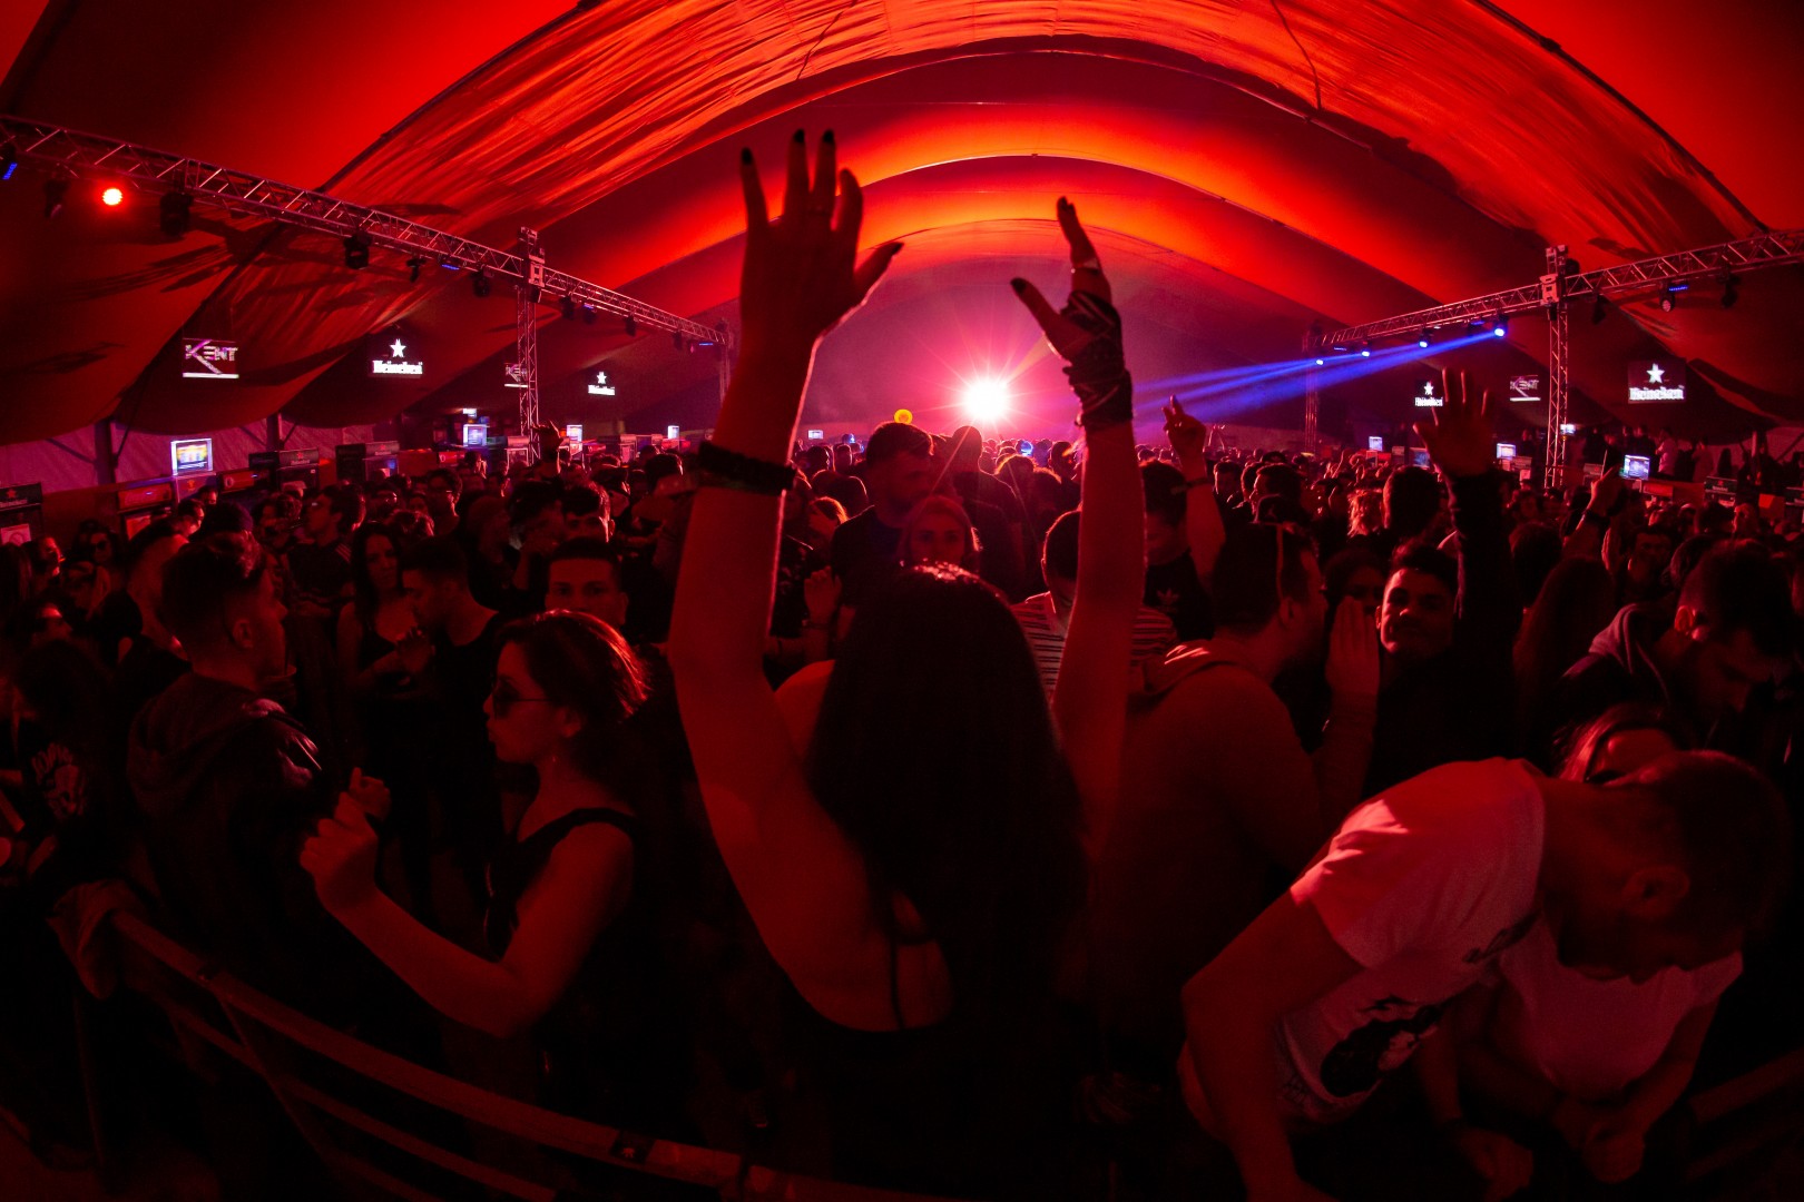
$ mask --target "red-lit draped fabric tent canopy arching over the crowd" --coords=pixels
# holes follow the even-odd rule
[[[554,267],[709,323],[736,319],[738,148],[774,184],[794,128],[833,128],[866,241],[907,243],[810,396],[810,420],[861,422],[971,375],[1059,393],[1003,287],[1057,281],[1059,195],[1099,234],[1138,377],[1180,389],[1295,359],[1310,321],[1526,283],[1550,243],[1589,269],[1804,225],[1800,50],[1804,5],[1678,0],[49,0],[0,16],[0,106],[492,245],[532,225]],[[175,240],[133,200],[72,193],[45,222],[23,171],[0,187],[0,442],[507,402],[505,288],[410,283],[381,250],[352,272],[332,238],[200,207]],[[1671,353],[1694,398],[1661,422],[1804,420],[1804,272],[1685,301],[1575,323],[1580,405]],[[707,423],[705,353],[543,317],[547,414]],[[428,375],[366,378],[364,337],[397,323]],[[235,339],[245,378],[184,384],[182,333]],[[1429,362],[1501,382],[1544,355],[1546,324],[1517,321]],[[595,371],[615,398],[588,398]],[[1407,411],[1384,377],[1337,387]]]

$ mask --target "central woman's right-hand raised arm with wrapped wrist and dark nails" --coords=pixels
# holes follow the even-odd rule
[[[1059,660],[1052,712],[1084,800],[1086,847],[1108,838],[1120,791],[1128,732],[1133,622],[1146,582],[1140,469],[1133,451],[1133,378],[1122,357],[1122,321],[1109,303],[1090,234],[1059,198],[1059,227],[1072,247],[1072,297],[1054,310],[1039,288],[1012,281],[1046,341],[1066,360],[1081,404],[1084,478],[1077,533],[1077,596]]]

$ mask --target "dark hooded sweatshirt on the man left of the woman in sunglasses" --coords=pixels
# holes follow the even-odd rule
[[[139,714],[126,755],[175,932],[276,998],[345,1020],[366,953],[299,867],[334,804],[307,732],[274,701],[189,672]]]

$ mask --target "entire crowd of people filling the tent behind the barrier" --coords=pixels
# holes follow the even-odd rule
[[[1797,1042],[1804,546],[1499,472],[1459,377],[1431,469],[1137,429],[1063,200],[1073,440],[797,445],[902,247],[788,157],[696,454],[0,548],[7,1106],[79,1143],[52,930],[123,879],[377,1045],[850,1182],[1671,1184],[1699,1061]]]

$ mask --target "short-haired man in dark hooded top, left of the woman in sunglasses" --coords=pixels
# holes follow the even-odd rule
[[[263,550],[245,535],[213,535],[168,560],[162,622],[191,670],[139,714],[126,775],[179,935],[334,1022],[355,1002],[345,971],[355,944],[296,860],[334,793],[307,732],[263,696],[287,667],[283,616]]]

